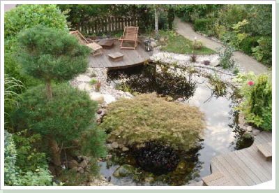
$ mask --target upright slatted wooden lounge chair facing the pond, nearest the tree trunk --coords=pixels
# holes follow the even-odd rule
[[[119,38],[119,41],[121,41],[120,49],[135,50],[135,48],[137,47],[137,31],[139,31],[139,27],[129,26],[124,28],[123,36]],[[123,43],[125,42],[134,43],[134,45],[132,47],[127,47],[123,45]]]

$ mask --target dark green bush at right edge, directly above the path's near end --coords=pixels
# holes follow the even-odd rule
[[[252,48],[252,55],[263,64],[272,64],[272,38],[271,37],[261,37],[257,41],[259,45]]]

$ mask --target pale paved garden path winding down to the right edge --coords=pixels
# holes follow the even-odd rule
[[[181,22],[178,17],[175,17],[174,23],[176,32],[178,34],[181,34],[181,36],[184,36],[191,41],[194,41],[195,37],[197,37],[199,41],[202,41],[204,45],[211,50],[216,50],[216,48],[221,47],[220,43],[217,43],[216,41],[212,41],[209,38],[197,34],[190,26],[190,24]],[[247,72],[254,71],[255,75],[259,75],[260,73],[271,73],[266,69],[266,66],[257,62],[257,60],[244,54],[243,52],[234,52],[233,58],[236,59],[236,62],[241,64],[241,66],[243,66],[243,69],[245,69]]]

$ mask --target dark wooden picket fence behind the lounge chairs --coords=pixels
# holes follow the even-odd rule
[[[137,17],[107,17],[95,19],[86,24],[80,24],[77,29],[83,34],[106,34],[114,31],[123,31],[125,26],[137,26]]]

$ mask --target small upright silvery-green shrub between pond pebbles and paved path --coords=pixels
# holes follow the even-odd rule
[[[223,48],[218,48],[217,51],[220,56],[219,64],[223,67],[223,69],[230,69],[234,67],[234,60],[232,59],[232,52],[234,52],[234,48],[232,48],[232,46],[226,44]]]

